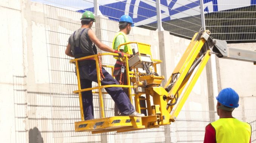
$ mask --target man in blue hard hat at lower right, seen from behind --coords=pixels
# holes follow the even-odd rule
[[[239,96],[231,88],[222,89],[217,99],[219,120],[205,127],[204,143],[250,143],[251,125],[232,116],[239,106]]]

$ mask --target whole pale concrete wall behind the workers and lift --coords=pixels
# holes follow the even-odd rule
[[[2,0],[0,2],[0,138],[6,143],[62,143],[62,142],[136,142],[140,134],[91,135],[75,133],[73,124],[80,120],[74,66],[64,54],[69,34],[80,27],[80,14],[30,0]],[[117,23],[97,18],[93,27],[98,38],[111,47],[118,31]],[[158,73],[168,79],[187,48],[190,40],[133,27],[129,38],[151,44],[155,59],[163,60]],[[231,44],[255,50],[254,44]],[[114,63],[106,57],[103,62]],[[239,108],[255,108],[255,66],[251,63],[219,60],[221,86],[233,87],[242,96]],[[227,67],[230,68],[227,68]],[[231,72],[230,72],[231,71]],[[95,85],[95,84],[94,84]],[[253,95],[253,96],[252,96]],[[213,101],[211,101],[213,102]],[[94,103],[98,109],[97,99]],[[109,110],[113,102],[109,101]],[[204,70],[182,110],[208,111],[207,77]],[[107,115],[113,115],[109,112]],[[208,119],[208,115],[181,112],[180,117]],[[98,117],[98,116],[96,116]],[[179,116],[178,116],[179,119]],[[183,123],[183,122],[182,122]],[[191,125],[191,122],[185,121]],[[170,126],[171,127],[171,126]],[[148,137],[163,137],[166,129],[148,131]],[[176,131],[175,129],[173,131]],[[151,132],[151,133],[150,133]],[[202,131],[204,132],[204,131]],[[170,132],[164,134],[168,136]],[[187,134],[187,133],[186,133]],[[170,135],[169,135],[170,136]],[[130,138],[130,140],[122,140]],[[132,140],[131,140],[132,138]],[[163,138],[162,138],[163,139]],[[164,140],[164,139],[163,139]],[[159,141],[155,138],[150,141]],[[165,139],[166,141],[166,139]]]

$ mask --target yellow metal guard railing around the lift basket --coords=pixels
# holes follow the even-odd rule
[[[140,54],[146,54],[149,55],[150,58],[152,59],[153,63],[152,66],[154,68],[154,71],[157,72],[157,68],[156,65],[161,63],[161,60],[156,60],[152,58],[151,55],[151,51],[150,51],[150,45],[149,44],[144,44],[144,43],[140,43],[140,42],[128,42],[128,43],[123,43],[120,44],[118,47],[118,50],[120,48],[120,46],[122,45],[127,45],[127,44],[137,44],[137,48],[138,48],[138,54],[140,56]],[[102,53],[102,54],[96,54],[96,55],[91,55],[91,56],[86,56],[86,57],[81,57],[81,58],[77,58],[74,60],[70,60],[70,63],[74,63],[76,65],[76,71],[77,71],[77,84],[78,84],[78,90],[73,91],[73,93],[78,93],[79,94],[79,104],[80,104],[80,114],[81,114],[81,120],[84,121],[84,113],[83,113],[83,103],[82,103],[82,92],[85,91],[89,91],[91,90],[92,93],[97,93],[99,94],[99,102],[100,102],[100,118],[104,118],[105,117],[105,113],[104,113],[104,105],[103,105],[103,97],[102,94],[107,94],[107,92],[102,92],[102,88],[108,88],[108,87],[123,87],[123,88],[128,88],[128,96],[130,98],[131,103],[133,104],[133,100],[132,100],[132,96],[134,96],[134,101],[135,101],[135,107],[136,107],[136,111],[141,113],[141,109],[147,109],[148,113],[151,114],[151,103],[150,103],[150,95],[147,95],[146,93],[135,93],[132,94],[131,89],[140,86],[141,82],[139,82],[139,70],[137,68],[131,67],[131,69],[133,71],[129,71],[129,65],[128,65],[128,57],[126,55],[124,55],[123,58],[120,58],[120,60],[123,62],[123,64],[126,66],[126,77],[127,77],[127,85],[117,85],[117,84],[113,84],[113,85],[101,85],[101,81],[100,81],[100,67],[99,67],[99,59],[98,56],[118,56],[118,54],[116,53]],[[91,88],[86,88],[86,89],[81,89],[81,84],[80,84],[80,74],[79,74],[79,61],[82,60],[86,60],[86,59],[94,59],[96,62],[96,71],[97,71],[97,83],[98,86],[97,87],[91,87]],[[140,57],[141,58],[141,57]],[[102,67],[107,67],[107,68],[111,68],[111,75],[113,77],[113,71],[114,71],[114,66],[109,66],[109,65],[102,65]],[[131,78],[133,79],[137,79],[136,81],[133,81],[134,86],[131,85]],[[162,79],[162,78],[161,78]],[[160,80],[161,80],[160,79]],[[98,91],[93,91],[93,90],[98,90]],[[146,94],[145,99],[140,99],[139,96],[141,94]],[[140,100],[145,100],[147,103],[147,107],[140,107]]]

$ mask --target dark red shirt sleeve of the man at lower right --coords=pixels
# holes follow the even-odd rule
[[[216,143],[216,132],[210,123],[205,127],[204,143]]]

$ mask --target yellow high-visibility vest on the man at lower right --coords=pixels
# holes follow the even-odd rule
[[[212,122],[217,143],[249,143],[251,125],[235,118],[221,118]]]

